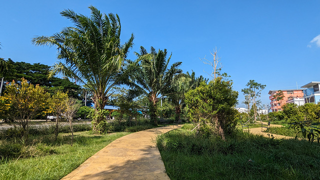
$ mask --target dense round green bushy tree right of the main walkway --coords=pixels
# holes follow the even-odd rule
[[[225,139],[225,133],[231,133],[236,125],[238,92],[232,89],[232,82],[216,77],[208,84],[201,85],[185,94],[189,108],[189,117],[198,122],[200,127],[205,123],[214,124],[217,133]]]

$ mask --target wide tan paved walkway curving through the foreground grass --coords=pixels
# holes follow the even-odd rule
[[[89,157],[63,180],[166,179],[155,137],[176,127],[165,126],[120,137]]]

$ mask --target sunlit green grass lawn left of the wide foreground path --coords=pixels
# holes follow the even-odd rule
[[[75,132],[72,146],[69,144],[70,133],[60,133],[57,142],[53,142],[52,135],[32,137],[34,144],[22,148],[23,158],[0,159],[0,179],[60,179],[95,152],[126,134],[129,132],[106,135]],[[1,143],[4,147],[6,142],[0,140]]]

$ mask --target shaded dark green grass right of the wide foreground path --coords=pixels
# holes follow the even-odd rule
[[[157,137],[170,179],[318,179],[320,145],[238,131],[222,141],[184,129]]]

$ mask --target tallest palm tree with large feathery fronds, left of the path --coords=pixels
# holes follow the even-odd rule
[[[70,19],[74,26],[64,27],[51,36],[37,36],[35,45],[56,46],[58,61],[49,76],[61,73],[85,84],[92,92],[96,110],[103,109],[108,100],[108,91],[124,82],[128,75],[123,68],[125,58],[133,45],[133,34],[120,44],[120,19],[117,14],[100,13],[89,6],[91,16],[77,14],[70,9],[60,14]]]

